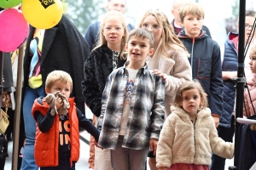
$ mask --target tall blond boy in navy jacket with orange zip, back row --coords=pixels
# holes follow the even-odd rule
[[[212,111],[215,126],[223,112],[223,81],[220,49],[203,31],[204,10],[198,3],[187,3],[179,10],[183,31],[179,39],[187,48],[192,68],[192,78],[198,79],[207,93],[209,108]]]

